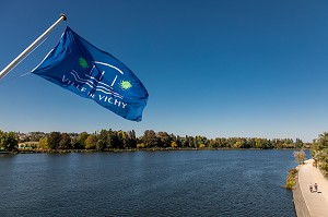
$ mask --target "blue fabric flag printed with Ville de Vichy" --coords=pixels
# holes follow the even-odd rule
[[[133,72],[67,27],[59,44],[32,71],[128,120],[141,121],[148,92]]]

